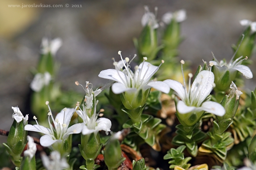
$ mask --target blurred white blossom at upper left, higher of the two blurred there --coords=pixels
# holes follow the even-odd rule
[[[42,54],[48,54],[49,52],[55,56],[58,49],[62,46],[62,40],[60,38],[55,38],[53,40],[48,40],[48,38],[44,37],[42,39]]]

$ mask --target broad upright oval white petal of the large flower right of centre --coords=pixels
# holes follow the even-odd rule
[[[203,70],[198,73],[190,89],[190,102],[200,105],[213,89],[214,74]]]

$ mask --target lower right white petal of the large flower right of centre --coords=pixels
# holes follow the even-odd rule
[[[209,112],[217,116],[223,116],[226,112],[225,108],[221,104],[213,101],[203,102],[201,108],[205,112]]]

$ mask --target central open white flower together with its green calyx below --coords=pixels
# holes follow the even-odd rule
[[[130,109],[137,108],[140,105],[143,106],[149,92],[146,90],[151,87],[164,93],[169,93],[170,88],[166,83],[161,81],[150,81],[152,76],[156,73],[164,61],[162,61],[162,63],[157,67],[146,62],[147,58],[143,57],[143,62],[139,66],[135,67],[135,72],[133,73],[129,66],[129,58],[125,58],[125,63],[122,58],[121,51],[119,51],[118,54],[121,57],[123,67],[125,69],[123,71],[120,71],[119,69],[103,70],[98,76],[100,78],[115,81],[115,83],[112,85],[112,91],[114,94],[122,94],[124,92],[124,97],[128,104],[125,104],[123,100],[122,102],[126,108],[128,107],[128,109]],[[134,57],[135,56],[136,55],[134,55]],[[137,99],[138,95],[143,96],[140,102],[134,100]]]

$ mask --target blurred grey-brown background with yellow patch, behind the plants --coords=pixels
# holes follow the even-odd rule
[[[62,7],[8,7],[31,4]],[[57,80],[63,89],[82,92],[75,81],[100,86],[106,81],[98,73],[113,67],[111,58],[118,60],[119,50],[125,57],[136,53],[132,38],[142,30],[144,5],[151,11],[158,7],[159,21],[166,12],[187,11],[187,20],[181,24],[185,40],[180,58],[194,69],[203,64],[202,59],[212,60],[211,51],[216,58],[229,61],[230,46],[244,30],[239,21],[256,21],[255,0],[1,0],[0,129],[10,129],[12,106],[24,110],[33,78],[30,70],[37,66],[42,37],[63,40],[56,55],[61,63]],[[254,65],[250,68],[256,72]],[[255,78],[246,81],[246,86],[254,90]],[[0,136],[1,142],[5,140]]]

